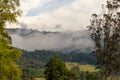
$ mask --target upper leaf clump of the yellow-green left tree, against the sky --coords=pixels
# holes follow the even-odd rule
[[[16,22],[17,16],[20,16],[19,0],[0,0],[0,22]]]

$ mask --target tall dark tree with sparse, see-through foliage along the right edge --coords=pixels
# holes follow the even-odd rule
[[[95,43],[95,53],[98,60],[102,80],[120,71],[120,0],[107,0],[102,6],[103,14],[92,15],[88,26],[90,37]]]

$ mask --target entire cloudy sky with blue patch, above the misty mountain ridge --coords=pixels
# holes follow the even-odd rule
[[[91,14],[100,13],[106,0],[21,0],[22,16],[18,24],[9,27],[27,27],[50,31],[79,31],[86,29]]]

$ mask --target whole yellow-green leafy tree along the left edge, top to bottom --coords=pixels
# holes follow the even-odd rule
[[[21,51],[11,46],[11,38],[5,31],[6,22],[17,22],[19,5],[19,0],[0,0],[0,80],[21,80],[21,70],[16,64]]]

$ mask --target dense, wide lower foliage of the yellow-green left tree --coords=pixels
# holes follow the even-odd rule
[[[21,71],[15,61],[21,52],[15,48],[0,48],[0,80],[20,80]]]

